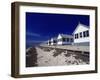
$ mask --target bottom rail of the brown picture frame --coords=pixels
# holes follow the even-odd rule
[[[78,74],[90,74],[97,73],[94,70],[91,71],[77,71],[77,72],[60,72],[60,73],[43,73],[43,74],[26,74],[18,75],[15,78],[28,78],[28,77],[45,77],[45,76],[61,76],[61,75],[78,75]]]

